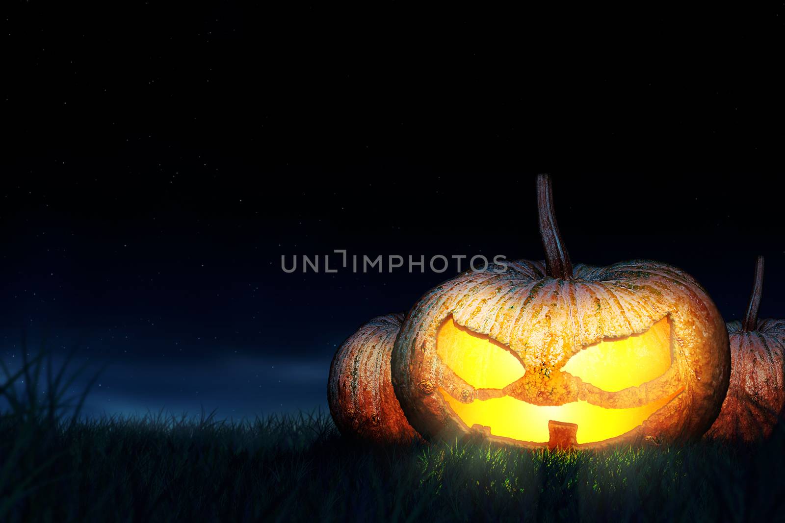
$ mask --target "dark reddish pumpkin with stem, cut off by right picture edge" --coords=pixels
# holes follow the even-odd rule
[[[785,320],[758,320],[763,292],[763,256],[744,321],[728,322],[731,380],[709,439],[758,441],[772,434],[785,405]]]

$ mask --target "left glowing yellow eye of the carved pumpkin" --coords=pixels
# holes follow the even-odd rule
[[[524,366],[502,343],[447,318],[436,334],[444,365],[476,389],[502,389],[524,376]]]

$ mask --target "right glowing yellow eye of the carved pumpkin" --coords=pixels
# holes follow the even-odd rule
[[[602,340],[573,355],[563,372],[607,392],[640,387],[670,369],[670,321],[663,318],[646,332]]]

